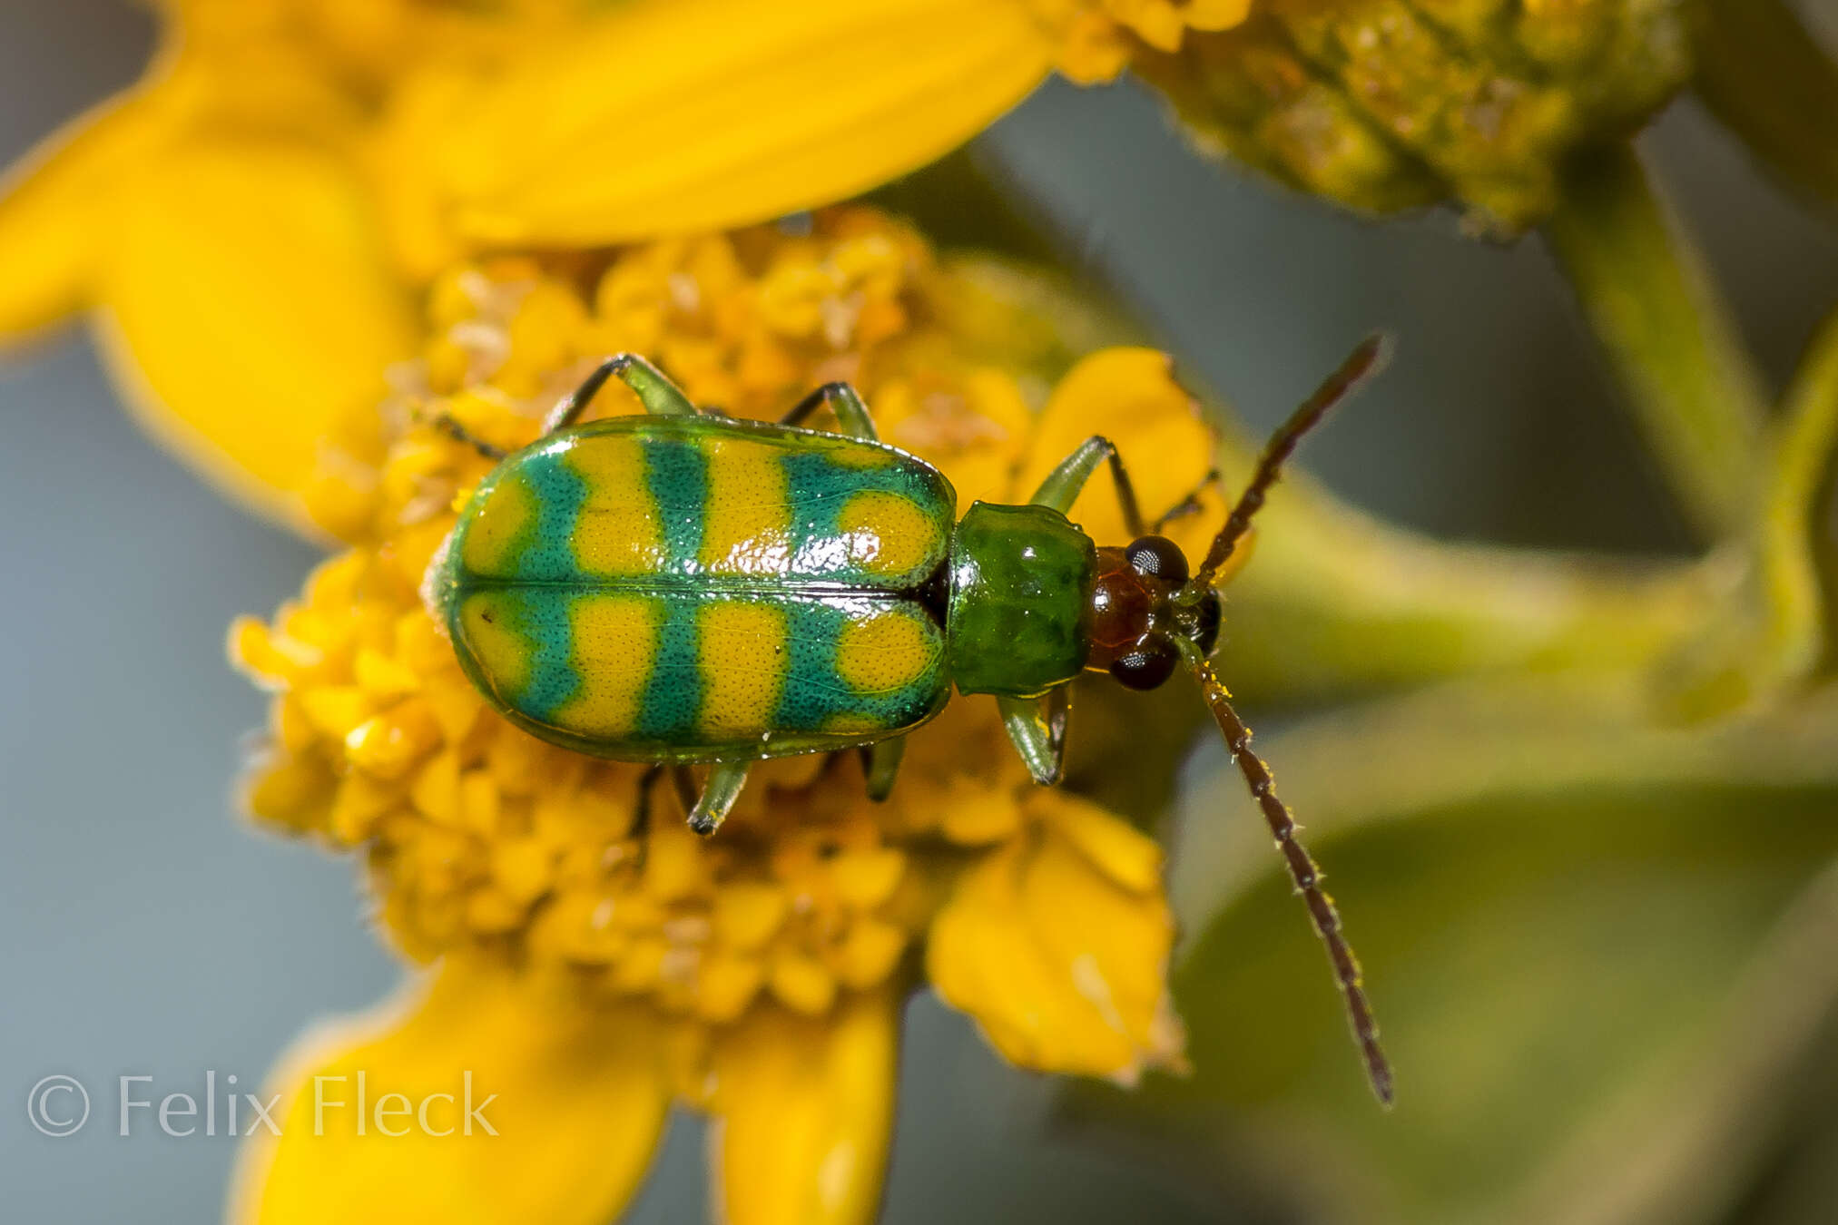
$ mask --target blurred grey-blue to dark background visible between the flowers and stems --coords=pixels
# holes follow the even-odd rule
[[[0,160],[130,83],[153,33],[127,4],[0,2]],[[1779,386],[1838,290],[1834,231],[1689,99],[1645,149]],[[1685,547],[1537,239],[1480,244],[1448,215],[1362,224],[1195,160],[1127,84],[1049,84],[974,156],[1254,432],[1390,331],[1390,375],[1307,450],[1340,496],[1452,538]],[[0,422],[6,1216],[213,1219],[232,1142],[114,1135],[116,1078],[202,1095],[213,1069],[254,1087],[307,1017],[362,1008],[399,973],[360,922],[351,865],[244,830],[230,804],[265,702],[224,663],[224,626],[292,595],[314,551],[156,450],[81,334],[0,365]],[[1222,768],[1209,746],[1191,771]],[[902,1080],[891,1223],[1255,1219],[1149,1155],[1055,1139],[1053,1085],[928,999],[904,1058],[926,1071]],[[53,1073],[90,1089],[99,1120],[81,1135],[28,1124],[26,1095]],[[698,1128],[678,1122],[632,1219],[704,1212]]]

